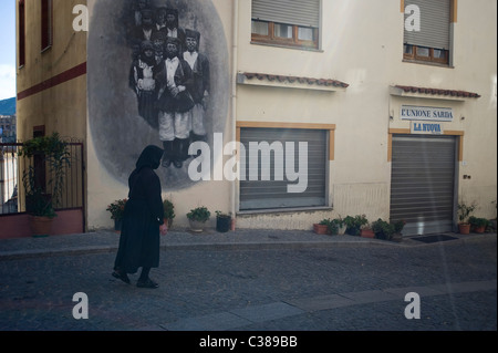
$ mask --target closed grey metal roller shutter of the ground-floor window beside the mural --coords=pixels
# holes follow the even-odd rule
[[[328,132],[321,129],[295,129],[295,128],[241,128],[240,142],[246,149],[245,170],[241,169],[245,177],[240,180],[240,210],[256,210],[256,209],[278,209],[291,207],[311,207],[325,205],[325,177],[326,177],[326,162],[328,162]],[[283,158],[283,164],[276,164],[274,152],[258,152],[257,170],[249,168],[250,143],[262,142],[270,146],[277,142],[277,145],[283,147],[283,155],[294,153],[293,169],[295,173],[300,170],[307,173],[308,185],[303,193],[289,193],[289,185],[298,185],[299,179],[289,180],[286,169],[287,160]],[[287,142],[293,142],[294,148],[286,148]],[[308,150],[299,147],[299,143],[305,143]],[[264,148],[262,148],[264,149]],[[307,158],[307,168],[303,165],[299,166],[299,155],[301,160]],[[269,158],[269,159],[267,159]],[[269,165],[262,168],[262,160],[269,160]],[[243,159],[241,158],[241,162]],[[256,164],[255,164],[256,165]],[[283,168],[283,170],[282,170]],[[257,175],[256,180],[250,176]],[[257,174],[256,174],[257,173]],[[263,174],[268,173],[269,180],[264,180]],[[276,174],[283,175],[283,179],[278,180]],[[302,181],[302,179],[301,179]]]

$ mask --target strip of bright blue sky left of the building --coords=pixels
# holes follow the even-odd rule
[[[15,96],[15,1],[0,0],[0,100]]]

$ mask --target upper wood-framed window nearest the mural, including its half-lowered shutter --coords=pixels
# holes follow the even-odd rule
[[[319,48],[320,0],[252,0],[252,42]]]

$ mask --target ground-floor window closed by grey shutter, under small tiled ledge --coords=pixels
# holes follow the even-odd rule
[[[326,206],[329,132],[240,129],[240,210]]]

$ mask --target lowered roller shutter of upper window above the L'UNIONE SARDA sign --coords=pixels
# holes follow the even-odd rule
[[[405,25],[405,44],[449,49],[449,7],[450,0],[405,0],[405,9],[415,4],[421,10],[421,30],[407,31]],[[405,13],[405,20],[409,13]]]

